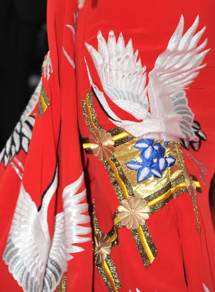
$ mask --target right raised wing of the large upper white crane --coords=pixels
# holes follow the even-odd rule
[[[204,50],[207,39],[200,45],[205,28],[195,34],[199,17],[183,35],[184,17],[173,33],[166,50],[157,58],[154,69],[149,73],[148,94],[153,117],[165,118],[171,123],[171,118],[179,117],[179,129],[176,135],[186,140],[194,139],[191,128],[193,113],[188,106],[184,89],[190,85],[199,70],[205,67],[202,61],[209,50]]]

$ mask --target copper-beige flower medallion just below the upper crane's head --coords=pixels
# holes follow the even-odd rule
[[[104,129],[96,129],[91,133],[89,137],[91,143],[91,149],[93,154],[98,157],[99,160],[107,160],[114,152],[114,141],[111,139],[111,134],[107,133]]]

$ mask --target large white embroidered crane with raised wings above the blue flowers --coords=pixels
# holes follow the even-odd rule
[[[110,120],[137,138],[154,138],[165,141],[180,139],[195,141],[191,128],[193,113],[188,107],[184,89],[193,82],[209,50],[202,51],[205,40],[197,47],[205,28],[194,34],[199,23],[193,25],[182,36],[184,18],[181,16],[166,50],[157,58],[154,69],[149,73],[146,87],[145,66],[142,67],[138,51],[134,53],[132,41],[125,46],[120,33],[116,42],[113,31],[109,32],[106,43],[101,31],[98,33],[98,51],[85,44],[97,69],[101,84],[108,97],[119,107],[141,122],[122,120],[110,109],[102,91],[92,82],[92,89]],[[148,111],[148,98],[150,110]]]

